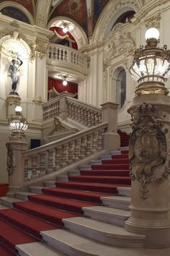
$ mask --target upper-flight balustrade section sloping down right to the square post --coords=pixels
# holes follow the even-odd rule
[[[66,97],[68,105],[68,117],[74,121],[79,121],[86,127],[93,127],[102,122],[102,108],[86,104],[75,98]]]

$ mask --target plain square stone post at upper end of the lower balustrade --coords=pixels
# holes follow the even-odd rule
[[[104,149],[109,153],[120,148],[120,135],[117,133],[117,106],[107,102],[102,106],[102,123],[108,122],[107,132],[104,133]]]

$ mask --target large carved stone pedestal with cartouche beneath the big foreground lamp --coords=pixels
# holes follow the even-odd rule
[[[170,247],[170,164],[167,95],[133,99],[129,158],[132,177],[131,216],[127,231],[146,234],[145,247]]]

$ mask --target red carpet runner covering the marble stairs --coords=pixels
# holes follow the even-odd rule
[[[102,204],[100,197],[130,186],[128,150],[80,173],[68,176],[68,182],[55,182],[55,188],[43,188],[42,195],[14,202],[14,209],[0,210],[0,255],[16,255],[16,244],[40,241],[40,231],[62,228],[63,218],[83,215],[83,207]]]

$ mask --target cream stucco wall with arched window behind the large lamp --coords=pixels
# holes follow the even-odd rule
[[[134,9],[136,12],[135,17],[131,23],[116,25],[110,32],[111,24],[113,24],[112,22],[115,21],[115,17],[121,12],[121,9],[124,11]],[[161,15],[160,21],[158,14]],[[160,30],[159,46],[162,47],[167,44],[168,48],[170,48],[169,17],[170,1],[110,1],[97,21],[91,44],[84,50],[90,58],[90,64],[89,76],[84,81],[84,88],[86,88],[87,93],[85,94],[84,90],[79,90],[81,101],[97,106],[107,101],[115,103],[114,75],[120,67],[126,70],[126,101],[118,112],[118,127],[127,132],[130,132],[130,115],[127,113],[127,109],[131,105],[137,85],[137,82],[133,81],[128,72],[133,61],[133,52],[128,52],[129,49],[125,45],[125,41],[128,38],[127,33],[129,33],[130,40],[135,48],[139,48],[140,45],[145,46],[146,25],[150,22],[151,27],[152,22]],[[122,48],[125,47],[125,51],[121,47],[119,48],[119,44],[113,48],[117,31],[124,37]],[[166,82],[166,86],[170,89],[170,82]]]

